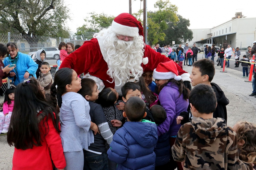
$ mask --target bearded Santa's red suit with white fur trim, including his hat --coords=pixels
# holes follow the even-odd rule
[[[127,26],[129,25],[129,26]],[[112,22],[112,28],[115,33],[135,37],[143,35],[143,27],[141,23],[132,15],[122,13],[117,16]],[[107,57],[106,49],[103,45],[104,38],[98,35],[96,38],[90,41],[84,42],[84,44],[73,53],[69,54],[67,58],[61,63],[61,68],[72,68],[77,74],[87,74],[100,78],[105,87],[115,88],[115,81],[107,74],[108,65],[105,61]],[[105,58],[105,59],[104,59]],[[148,62],[144,59],[147,58]],[[144,46],[143,63],[141,64],[143,71],[153,71],[157,68],[159,63],[171,61],[168,57],[157,53],[150,48],[149,45]],[[189,74],[182,70],[177,63],[175,63],[178,69],[179,75],[182,76],[183,81],[190,81]],[[110,83],[113,82],[113,83]]]

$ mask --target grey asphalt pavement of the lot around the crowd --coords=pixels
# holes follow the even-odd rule
[[[245,52],[242,51],[240,56],[244,54]],[[202,55],[203,53],[198,53],[198,59],[201,59]],[[222,73],[220,66],[216,65],[216,60],[217,57],[215,57],[215,76],[212,82],[221,87],[230,101],[227,105],[227,125],[233,127],[240,120],[256,124],[256,98],[249,96],[252,93],[252,83],[245,82],[244,80],[248,80],[248,78],[241,77],[243,75],[241,65],[239,68],[234,68],[235,61],[231,60],[230,68],[225,68],[227,73]],[[183,69],[191,74],[192,66],[183,66]],[[14,152],[14,147],[8,145],[6,137],[6,135],[0,136],[0,169],[3,170],[12,169]]]

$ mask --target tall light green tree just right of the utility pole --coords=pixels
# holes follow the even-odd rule
[[[154,7],[158,8],[158,11],[148,12],[148,41],[150,44],[163,41],[165,39],[164,30],[168,29],[168,24],[178,21],[178,8],[169,0],[159,0],[154,4]]]

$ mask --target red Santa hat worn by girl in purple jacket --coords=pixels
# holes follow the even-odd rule
[[[159,63],[157,68],[154,69],[153,78],[158,80],[173,78],[177,81],[181,80],[181,76],[178,75],[178,70],[173,60],[166,63]]]

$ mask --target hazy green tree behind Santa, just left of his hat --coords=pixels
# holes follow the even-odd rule
[[[84,19],[86,24],[77,28],[76,36],[84,38],[85,32],[98,33],[100,30],[108,28],[115,18],[114,16],[108,16],[104,13],[95,14],[95,12],[91,12],[89,14],[91,15],[90,18]]]

